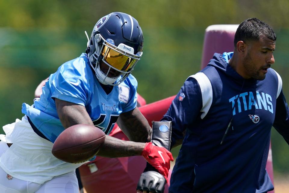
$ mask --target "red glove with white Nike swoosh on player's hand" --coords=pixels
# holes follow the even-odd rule
[[[169,161],[173,161],[172,153],[166,150],[164,147],[158,147],[152,144],[152,142],[146,143],[141,155],[147,160],[149,164],[154,166],[160,174],[162,174],[168,182]]]

